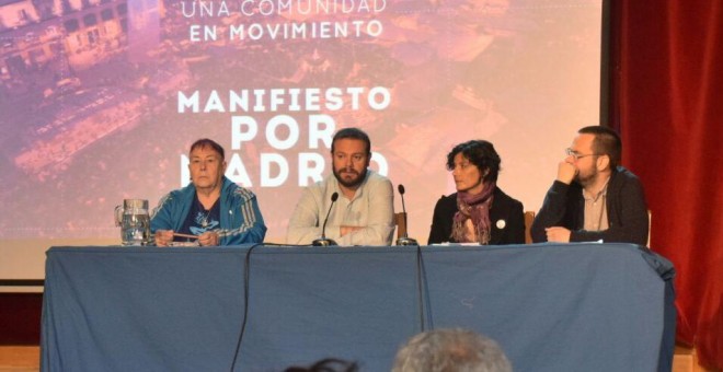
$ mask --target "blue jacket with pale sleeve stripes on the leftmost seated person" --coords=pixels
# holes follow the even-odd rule
[[[194,184],[173,190],[161,198],[151,213],[151,232],[179,231],[188,216],[196,194]],[[262,243],[266,225],[256,204],[256,196],[223,177],[221,186],[219,245]]]

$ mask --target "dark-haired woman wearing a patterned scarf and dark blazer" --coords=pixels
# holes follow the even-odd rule
[[[457,193],[434,208],[428,244],[524,244],[523,204],[497,187],[500,155],[492,143],[472,140],[447,154]]]

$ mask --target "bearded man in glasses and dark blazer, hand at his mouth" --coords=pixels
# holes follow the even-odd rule
[[[645,245],[649,216],[640,179],[620,163],[622,144],[612,129],[577,131],[531,234],[537,242],[624,242]]]

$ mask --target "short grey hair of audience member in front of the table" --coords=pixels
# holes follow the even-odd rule
[[[474,332],[434,329],[412,337],[397,352],[392,372],[512,372],[493,339]]]

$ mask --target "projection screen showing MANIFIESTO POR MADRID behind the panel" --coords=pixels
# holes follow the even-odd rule
[[[284,243],[340,128],[406,189],[410,235],[455,191],[446,154],[486,139],[537,210],[599,123],[601,0],[2,0],[0,279],[51,245],[119,244],[113,210],[188,182],[211,138]],[[394,197],[401,211],[399,195]]]

